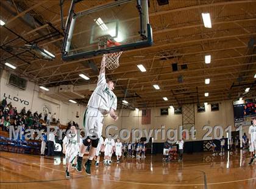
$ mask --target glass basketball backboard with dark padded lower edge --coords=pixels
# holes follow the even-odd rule
[[[84,1],[73,1],[66,22],[63,60],[89,58],[104,53],[152,45],[148,1],[123,0],[75,12]],[[119,46],[107,46],[107,41]]]

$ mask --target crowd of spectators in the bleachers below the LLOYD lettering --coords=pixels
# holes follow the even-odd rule
[[[38,111],[32,113],[26,107],[19,112],[16,107],[12,106],[12,102],[7,103],[6,99],[0,101],[0,128],[2,131],[9,131],[10,125],[15,129],[22,126],[23,129],[44,129],[46,125],[55,123],[60,125],[60,120],[56,118],[56,114],[38,114]]]

